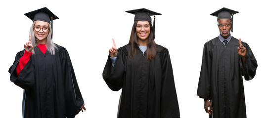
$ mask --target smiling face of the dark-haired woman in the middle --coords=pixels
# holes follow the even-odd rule
[[[148,21],[138,21],[136,24],[136,35],[140,40],[146,40],[150,35],[150,24]]]

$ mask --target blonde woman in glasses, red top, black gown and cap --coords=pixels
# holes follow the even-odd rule
[[[75,118],[86,108],[67,50],[52,41],[50,21],[58,17],[46,7],[25,15],[33,20],[29,41],[9,68],[24,89],[23,118]]]

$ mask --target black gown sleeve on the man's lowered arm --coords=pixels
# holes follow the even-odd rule
[[[212,48],[209,44],[205,43],[202,56],[202,64],[200,71],[200,78],[198,84],[197,95],[201,98],[210,99],[211,90],[211,67],[212,67]]]

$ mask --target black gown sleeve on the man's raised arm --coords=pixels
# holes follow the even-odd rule
[[[256,70],[258,67],[257,60],[255,59],[255,56],[253,55],[249,45],[247,43],[243,43],[246,48],[246,65],[245,68],[243,67],[242,59],[240,61],[240,67],[242,76],[244,76],[245,80],[252,80],[254,76],[256,75]]]

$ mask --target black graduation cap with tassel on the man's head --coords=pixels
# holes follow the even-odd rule
[[[233,18],[234,18],[233,15],[236,14],[236,13],[239,13],[239,12],[223,7],[223,8],[219,9],[218,11],[216,11],[216,12],[210,14],[210,15],[216,16],[217,20],[219,20],[219,19],[230,19],[232,21],[231,31],[233,32]]]

